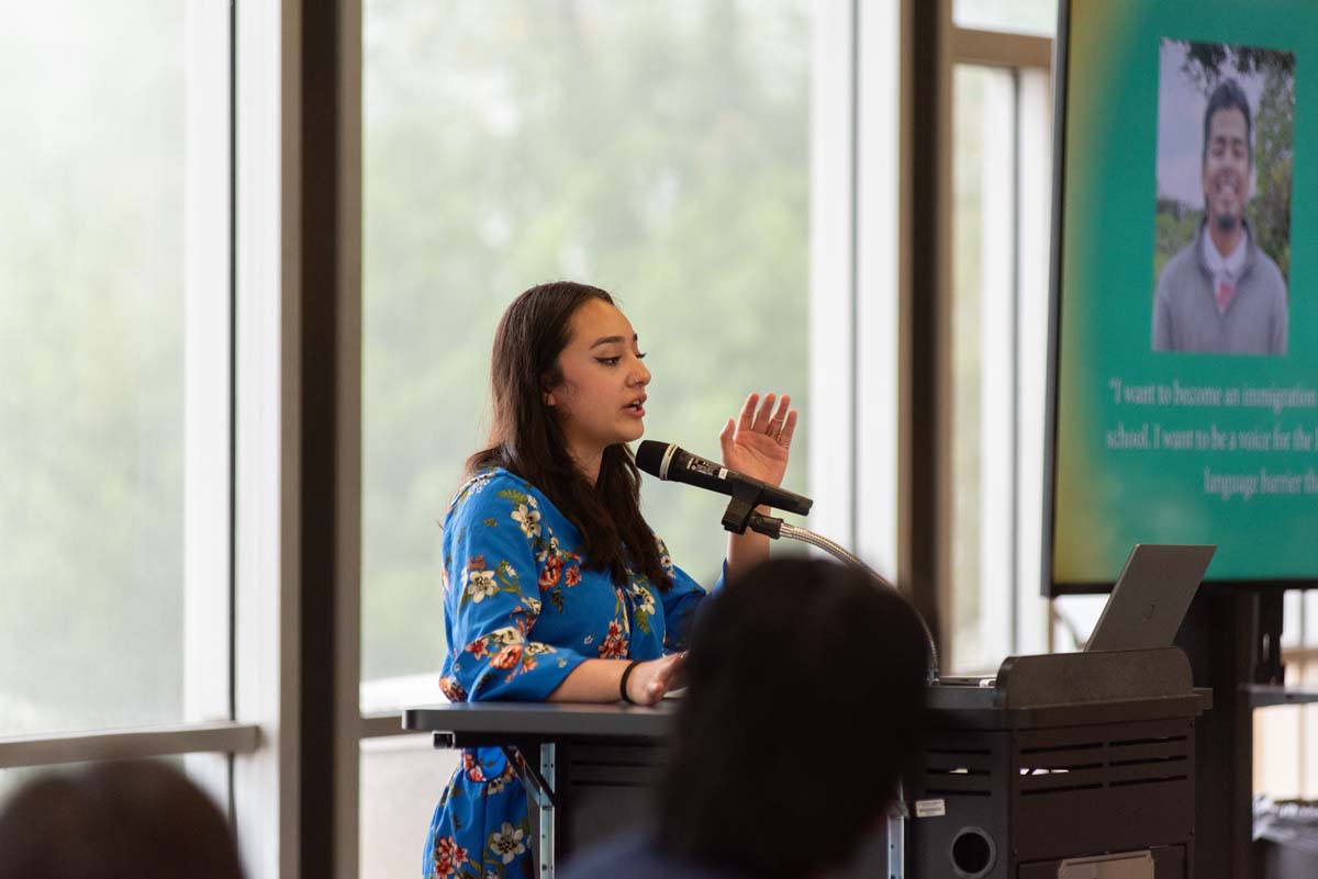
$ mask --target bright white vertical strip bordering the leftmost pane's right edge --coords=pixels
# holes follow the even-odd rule
[[[183,283],[183,721],[232,704],[232,17],[187,4]],[[227,766],[188,775],[231,803]]]

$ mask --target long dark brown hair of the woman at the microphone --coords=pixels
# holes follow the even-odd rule
[[[563,425],[544,393],[563,382],[559,354],[581,305],[613,297],[598,287],[555,282],[523,292],[500,318],[490,363],[494,420],[489,447],[467,461],[468,475],[503,467],[539,488],[583,538],[585,566],[626,583],[627,561],[660,590],[672,582],[654,532],[641,515],[641,472],[626,443],[609,446],[592,486],[568,453]]]

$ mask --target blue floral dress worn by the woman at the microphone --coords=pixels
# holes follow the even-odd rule
[[[685,649],[705,592],[673,567],[672,588],[639,574],[588,571],[581,536],[525,479],[494,468],[459,491],[444,518],[439,686],[452,701],[546,699],[585,659],[658,659]],[[497,747],[465,749],[431,818],[427,879],[532,875],[526,790]]]

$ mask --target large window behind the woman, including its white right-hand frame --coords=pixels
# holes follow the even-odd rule
[[[494,325],[522,289],[568,278],[621,300],[654,372],[648,438],[718,457],[746,392],[789,392],[805,417],[786,484],[818,511],[804,524],[850,543],[867,517],[862,554],[891,550],[896,454],[873,432],[891,433],[896,345],[875,334],[853,355],[851,325],[896,334],[896,4],[871,13],[859,39],[883,79],[861,149],[882,197],[861,196],[879,251],[862,283],[880,292],[858,303],[858,25],[842,4],[364,4],[361,708],[384,716],[361,745],[362,876],[415,868],[453,765],[376,734],[440,699],[438,525],[485,440]],[[857,437],[874,449],[859,480],[882,488],[863,509]],[[712,586],[726,499],[647,478],[643,500]]]

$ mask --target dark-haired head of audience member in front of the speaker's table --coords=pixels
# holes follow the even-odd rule
[[[923,743],[927,667],[915,611],[854,568],[728,583],[692,633],[660,846],[771,879],[850,861]]]

